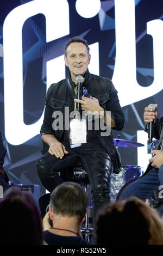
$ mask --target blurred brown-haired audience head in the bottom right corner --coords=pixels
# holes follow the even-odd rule
[[[155,209],[137,198],[98,211],[97,245],[163,245],[163,224]]]

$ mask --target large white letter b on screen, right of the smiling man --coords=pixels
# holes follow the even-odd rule
[[[142,87],[136,81],[135,0],[115,0],[116,61],[112,82],[121,106],[150,97],[162,90],[163,21],[147,23],[153,36],[154,81]]]

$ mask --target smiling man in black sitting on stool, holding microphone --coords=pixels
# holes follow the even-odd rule
[[[117,90],[112,82],[108,78],[90,74],[87,69],[90,60],[89,46],[84,39],[75,37],[67,42],[65,64],[70,73],[67,79],[52,84],[46,94],[45,115],[41,126],[44,155],[37,163],[37,173],[42,185],[52,192],[63,182],[58,171],[81,162],[91,185],[93,220],[95,220],[97,210],[103,204],[110,202],[111,172],[113,170],[119,173],[121,167],[112,133],[105,131],[103,135],[102,127],[97,127],[95,124],[105,125],[106,130],[122,130],[124,115]],[[80,88],[77,86],[78,76],[83,76]],[[87,89],[92,99],[90,97],[77,99],[78,88],[80,99],[84,90],[82,88]],[[79,111],[76,111],[77,106]],[[91,122],[86,118],[82,121],[73,118],[69,125],[70,115],[74,111],[78,112],[80,117],[84,112],[85,117],[91,112],[94,120]],[[91,129],[89,124],[92,124]],[[68,125],[73,127],[70,133]]]

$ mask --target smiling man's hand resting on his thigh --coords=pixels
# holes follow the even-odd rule
[[[49,150],[48,150],[49,154],[51,155],[55,155],[57,158],[62,159],[62,157],[64,156],[64,154],[68,154],[68,151],[66,150],[65,146],[58,142],[53,142],[50,146],[49,146]]]

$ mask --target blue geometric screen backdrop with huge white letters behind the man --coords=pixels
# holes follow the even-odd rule
[[[90,45],[90,72],[110,78],[118,91],[126,124],[113,131],[114,138],[145,144],[118,148],[122,165],[146,168],[143,110],[158,103],[163,114],[161,1],[2,0],[0,14],[0,128],[9,178],[40,185],[36,163],[45,94],[67,76],[64,46],[75,35]]]

